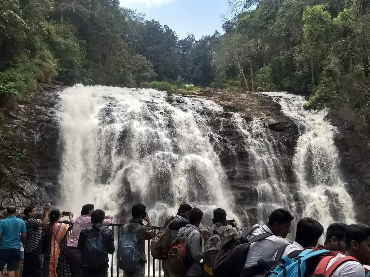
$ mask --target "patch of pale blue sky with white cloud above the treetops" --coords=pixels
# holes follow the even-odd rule
[[[194,34],[199,40],[203,35],[222,33],[220,14],[226,13],[226,0],[120,0],[121,6],[146,14],[146,20],[158,20],[168,25],[178,37]]]

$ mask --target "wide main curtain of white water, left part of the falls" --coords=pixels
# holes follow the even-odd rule
[[[233,201],[210,138],[204,111],[222,112],[203,99],[171,105],[165,92],[82,85],[65,89],[60,119],[63,209],[78,214],[93,203],[119,218],[143,202],[155,224],[187,202],[205,212]],[[117,219],[117,218],[116,218]]]

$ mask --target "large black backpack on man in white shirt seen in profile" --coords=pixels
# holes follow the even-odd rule
[[[245,261],[249,252],[250,244],[259,242],[272,236],[272,233],[262,233],[248,240],[248,235],[255,229],[262,228],[255,226],[242,236],[233,237],[228,240],[217,253],[213,264],[214,277],[240,276],[244,269]]]

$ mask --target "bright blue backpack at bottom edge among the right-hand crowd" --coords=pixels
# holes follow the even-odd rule
[[[303,277],[306,272],[306,260],[320,256],[329,252],[329,250],[317,250],[312,249],[304,250],[298,257],[289,259],[287,256],[281,258],[283,264],[275,267],[267,275],[269,277]]]

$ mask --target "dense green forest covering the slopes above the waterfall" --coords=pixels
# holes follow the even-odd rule
[[[370,0],[228,0],[223,32],[179,39],[119,0],[0,0],[0,107],[57,80],[311,94],[370,112]]]

